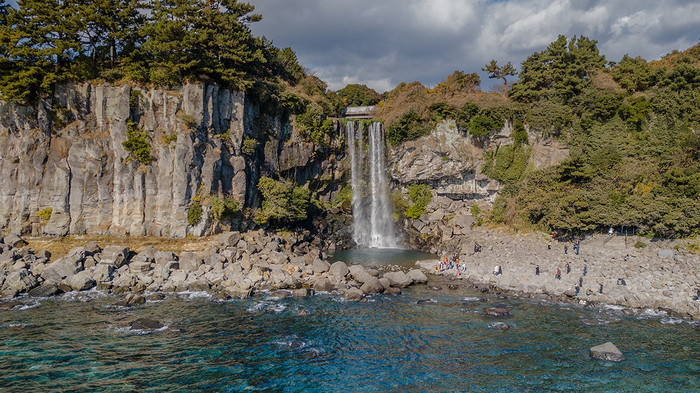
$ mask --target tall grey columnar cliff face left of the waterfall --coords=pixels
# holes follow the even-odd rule
[[[148,164],[122,144],[129,122],[148,135]],[[0,226],[32,235],[211,233],[218,223],[206,200],[202,220],[188,225],[193,200],[256,206],[262,171],[322,171],[327,157],[290,143],[289,128],[244,93],[208,85],[64,85],[36,106],[0,103]],[[244,154],[247,137],[264,143]]]

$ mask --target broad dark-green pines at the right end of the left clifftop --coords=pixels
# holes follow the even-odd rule
[[[253,10],[236,0],[156,0],[130,76],[159,85],[194,79],[250,87],[256,65],[266,62],[248,28],[261,19]]]

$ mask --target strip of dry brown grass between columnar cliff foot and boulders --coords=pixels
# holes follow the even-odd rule
[[[73,248],[84,246],[90,242],[95,242],[102,248],[110,244],[125,245],[136,252],[140,252],[146,248],[146,246],[153,246],[157,250],[172,251],[176,254],[183,251],[204,251],[217,244],[216,236],[174,239],[153,236],[82,235],[65,237],[25,237],[24,240],[26,240],[27,243],[29,243],[29,247],[35,251],[49,251],[52,261],[65,256]]]

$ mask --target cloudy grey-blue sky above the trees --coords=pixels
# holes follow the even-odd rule
[[[559,34],[598,40],[610,61],[647,60],[700,42],[697,0],[247,0],[263,15],[251,25],[337,90],[379,92],[399,82],[434,86],[455,70],[491,59],[518,66]]]

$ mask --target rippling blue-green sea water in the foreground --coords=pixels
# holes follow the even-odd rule
[[[0,391],[700,391],[697,323],[651,310],[485,296],[447,283],[362,303],[271,293],[225,302],[170,294],[133,308],[96,291],[25,298],[0,311]],[[482,315],[495,305],[512,316]],[[130,329],[142,317],[165,326]],[[627,359],[589,357],[590,347],[607,341]]]

